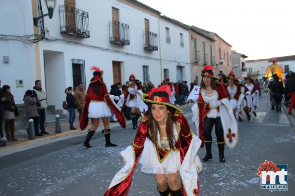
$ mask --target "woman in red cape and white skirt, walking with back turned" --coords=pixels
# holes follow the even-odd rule
[[[88,130],[86,139],[83,146],[91,148],[89,142],[94,135],[96,129],[99,126],[99,119],[101,118],[104,123],[104,129],[102,133],[105,134],[106,145],[105,147],[115,147],[116,144],[111,143],[111,129],[109,117],[111,116],[110,109],[114,112],[120,125],[125,128],[125,118],[118,108],[114,105],[109,97],[108,89],[103,81],[103,71],[97,67],[91,67],[93,70],[93,78],[90,80],[90,84],[85,96],[85,106],[80,117],[80,128],[85,129],[88,125],[88,118],[92,120],[92,126]]]

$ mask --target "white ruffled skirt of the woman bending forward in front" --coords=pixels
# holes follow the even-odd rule
[[[144,173],[176,173],[181,166],[180,153],[179,151],[171,151],[163,162],[160,163],[155,145],[150,139],[146,138],[139,163],[142,165],[141,171]]]

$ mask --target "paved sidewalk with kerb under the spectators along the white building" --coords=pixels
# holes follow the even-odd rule
[[[187,105],[182,105],[179,108],[191,107],[192,105],[193,104],[190,103]],[[79,114],[77,114],[76,117],[79,117]],[[131,123],[132,123],[131,120],[126,120],[126,127],[128,127],[128,125]],[[102,122],[102,120],[100,120],[100,125],[99,125],[98,129],[103,129],[103,126],[104,126],[103,122]],[[118,122],[116,122],[116,123],[110,122],[110,128],[117,127],[117,126],[120,126],[120,124]],[[85,136],[86,136],[86,132],[87,132],[88,128],[91,127],[91,121],[89,120],[88,127],[83,131],[79,128],[80,126],[79,126],[78,118],[76,118],[74,121],[74,127],[76,127],[77,130],[70,130],[68,121],[62,121],[60,123],[60,127],[61,127],[61,133],[55,133],[56,132],[55,125],[45,127],[46,131],[49,132],[50,134],[43,135],[43,136],[36,136],[35,140],[28,139],[28,134],[27,134],[27,130],[26,130],[27,127],[24,127],[25,129],[15,130],[15,138],[18,141],[9,141],[9,142],[6,141],[6,146],[0,147],[0,154],[1,154],[1,152],[7,151],[9,149],[24,147],[24,146],[31,145],[33,143],[41,142],[41,141],[54,140],[54,139],[65,137],[65,136],[68,136],[71,134],[85,133]],[[5,134],[4,134],[4,136],[5,136]]]

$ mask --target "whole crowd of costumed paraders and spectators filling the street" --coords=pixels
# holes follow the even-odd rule
[[[202,161],[209,161],[212,155],[212,129],[215,125],[219,161],[226,162],[225,147],[234,149],[238,142],[237,121],[251,120],[257,116],[259,97],[262,89],[252,76],[244,81],[235,77],[231,71],[227,75],[215,76],[213,66],[206,65],[201,71],[200,85],[196,81],[172,82],[166,78],[157,87],[151,81],[142,83],[134,74],[125,84],[113,84],[108,91],[103,80],[103,71],[92,67],[93,78],[84,90],[80,82],[75,89],[64,90],[68,111],[69,129],[75,130],[73,122],[76,110],[79,113],[80,129],[91,126],[87,131],[83,146],[91,148],[90,140],[97,131],[100,119],[104,128],[105,147],[116,147],[111,142],[110,122],[118,122],[126,127],[125,120],[132,121],[132,129],[137,130],[134,141],[120,152],[124,165],[113,178],[105,196],[126,195],[131,185],[136,164],[141,171],[155,175],[157,189],[161,196],[195,196],[199,193],[198,173],[202,162],[198,157],[199,148],[205,147],[206,155]],[[1,82],[1,80],[0,80]],[[285,86],[285,87],[284,87]],[[271,110],[282,112],[283,104],[292,114],[295,107],[295,73],[289,72],[281,81],[274,74],[264,91],[270,92]],[[32,90],[23,97],[25,116],[34,120],[36,136],[49,134],[45,130],[47,101],[42,89],[42,81],[36,80]],[[191,131],[187,119],[179,106],[194,103],[192,121],[196,135]],[[6,139],[17,141],[14,135],[15,116],[20,115],[9,85],[0,88],[0,137],[3,138],[2,122]],[[244,118],[245,117],[245,118]],[[139,122],[138,122],[139,120]],[[178,181],[179,175],[181,181]]]

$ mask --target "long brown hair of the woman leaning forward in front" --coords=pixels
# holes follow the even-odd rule
[[[174,113],[175,113],[175,109],[172,107],[167,107],[167,110],[169,111],[168,113],[168,117],[167,117],[167,122],[166,122],[166,134],[167,134],[167,138],[169,141],[169,147],[171,150],[174,150],[174,143],[175,146],[177,146],[177,142],[176,142],[176,138],[174,135]],[[157,146],[157,141],[158,141],[158,130],[160,131],[160,126],[159,123],[155,120],[155,118],[152,115],[152,104],[149,105],[148,111],[146,112],[146,116],[148,116],[148,128],[150,130],[150,134],[151,134],[151,140],[152,142],[155,144],[155,146]],[[161,137],[161,135],[160,135]]]

